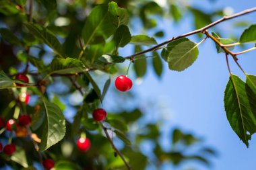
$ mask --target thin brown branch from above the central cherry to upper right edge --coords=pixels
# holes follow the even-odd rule
[[[234,17],[239,17],[239,16],[242,16],[242,15],[245,15],[245,14],[247,14],[247,13],[252,13],[252,12],[254,12],[254,11],[256,11],[256,7],[253,7],[253,8],[251,8],[251,9],[247,9],[247,10],[245,10],[245,11],[241,11],[241,12],[239,12],[239,13],[235,13],[234,15],[224,16],[224,17],[218,19],[216,22],[213,22],[212,24],[209,24],[209,25],[207,25],[207,26],[205,26],[205,27],[203,27],[203,28],[200,28],[200,29],[195,30],[195,31],[192,31],[192,32],[188,32],[188,33],[183,34],[183,35],[181,35],[181,36],[173,37],[172,39],[167,40],[167,41],[165,41],[165,42],[162,42],[162,43],[160,43],[160,44],[158,44],[158,45],[156,45],[156,46],[153,46],[152,48],[148,48],[147,50],[143,50],[143,51],[141,51],[141,52],[137,52],[137,53],[135,53],[135,54],[133,54],[133,55],[131,55],[131,56],[127,56],[127,57],[125,57],[125,58],[130,59],[130,60],[133,60],[133,58],[134,58],[135,56],[140,56],[141,54],[145,54],[145,53],[147,53],[147,52],[154,51],[154,50],[158,49],[159,47],[164,46],[165,44],[168,44],[168,43],[170,43],[170,42],[172,42],[172,41],[174,41],[174,40],[179,40],[179,39],[181,39],[181,38],[185,38],[185,37],[187,37],[187,36],[191,36],[191,35],[194,35],[194,34],[198,34],[198,33],[200,33],[200,32],[203,33],[203,32],[204,32],[205,30],[207,30],[208,28],[212,28],[213,26],[216,26],[217,24],[220,24],[221,22],[224,22],[224,21],[229,20],[229,19],[233,19]]]

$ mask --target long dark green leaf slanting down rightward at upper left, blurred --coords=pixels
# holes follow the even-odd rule
[[[24,23],[24,25],[30,32],[32,32],[32,34],[34,34],[34,36],[52,48],[56,54],[61,56],[61,58],[65,58],[65,56],[62,54],[63,49],[61,43],[56,38],[55,34],[46,28],[42,28],[38,24]]]

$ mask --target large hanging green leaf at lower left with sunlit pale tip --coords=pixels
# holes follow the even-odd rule
[[[65,118],[61,109],[55,103],[44,102],[45,118],[42,124],[42,136],[39,145],[39,151],[45,151],[47,148],[56,144],[65,136]]]

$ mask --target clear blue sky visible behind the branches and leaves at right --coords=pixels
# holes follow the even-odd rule
[[[191,1],[195,7],[212,11],[231,7],[234,12],[243,11],[255,6],[255,2],[244,1]],[[191,16],[178,24],[170,21],[159,21],[160,27],[166,32],[166,36],[158,42],[179,36],[193,30]],[[232,21],[224,22],[210,30],[222,30],[226,38],[232,34],[239,36],[238,31],[231,27],[235,21],[249,20],[255,22],[256,13],[245,15]],[[168,30],[166,30],[168,28]],[[241,33],[240,33],[241,34]],[[199,40],[189,37],[195,42]],[[239,49],[235,49],[239,51]],[[124,50],[127,52],[127,50]],[[256,75],[255,51],[238,56],[238,62],[249,74]],[[126,56],[124,54],[124,56]],[[243,73],[230,60],[232,73],[245,79]],[[241,170],[255,169],[256,137],[253,136],[249,142],[249,148],[236,136],[230,127],[224,111],[224,90],[228,82],[228,69],[224,54],[218,54],[214,43],[209,39],[199,46],[199,56],[195,63],[183,72],[168,70],[164,63],[164,74],[162,79],[157,79],[152,69],[148,70],[143,82],[135,85],[135,93],[139,97],[142,108],[147,108],[147,102],[160,105],[160,113],[148,115],[148,120],[163,120],[164,134],[168,134],[169,128],[181,127],[187,132],[195,132],[203,136],[205,144],[214,146],[219,153],[217,159],[213,159],[211,169],[218,170]],[[146,109],[147,110],[147,109]],[[150,113],[150,112],[149,112]],[[163,146],[168,148],[169,140],[163,137]],[[207,167],[199,167],[199,169]],[[168,169],[168,168],[166,168]],[[177,169],[181,169],[178,167]]]

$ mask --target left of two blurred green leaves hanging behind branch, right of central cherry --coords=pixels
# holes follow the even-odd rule
[[[135,52],[141,51],[140,46],[135,46]],[[143,77],[147,71],[147,60],[146,58],[135,60],[134,69],[137,77]]]

